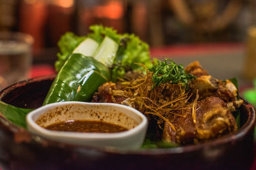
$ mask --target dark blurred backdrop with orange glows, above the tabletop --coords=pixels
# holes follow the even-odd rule
[[[27,32],[34,52],[56,47],[61,34],[92,24],[134,32],[152,47],[241,42],[256,24],[254,0],[0,0],[0,30]]]

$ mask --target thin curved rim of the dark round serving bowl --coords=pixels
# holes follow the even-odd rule
[[[30,78],[28,80],[24,80],[24,81],[20,81],[18,83],[15,83],[13,85],[10,85],[6,88],[4,88],[3,90],[0,91],[0,100],[1,97],[4,96],[4,94],[6,94],[6,92],[10,92],[13,89],[15,89],[16,87],[20,87],[24,84],[27,83],[33,83],[35,81],[44,81],[44,80],[53,80],[54,77],[56,76],[56,74],[51,74],[51,75],[47,75],[47,76],[38,76],[35,78]],[[241,98],[243,99],[243,98]],[[245,99],[243,99],[244,101],[244,106],[246,107],[246,110],[248,111],[248,120],[245,122],[245,124],[235,133],[232,134],[227,134],[221,138],[215,139],[214,141],[209,141],[207,143],[200,143],[197,145],[186,145],[186,146],[177,146],[174,148],[152,148],[152,149],[141,149],[141,150],[116,150],[115,148],[110,148],[110,147],[106,147],[106,148],[94,148],[91,146],[80,146],[80,145],[70,145],[70,144],[66,144],[66,143],[61,143],[61,142],[57,142],[57,141],[51,141],[49,139],[45,139],[42,138],[41,136],[37,136],[35,134],[31,134],[30,132],[28,132],[31,137],[33,137],[32,139],[38,143],[38,145],[42,145],[42,143],[44,143],[44,141],[46,141],[47,143],[49,143],[49,145],[51,146],[56,146],[59,148],[84,148],[87,150],[96,150],[98,152],[108,152],[108,153],[115,153],[115,154],[132,154],[132,155],[164,155],[164,154],[179,154],[179,153],[185,153],[185,152],[193,152],[196,150],[200,150],[202,148],[210,148],[212,146],[216,146],[216,145],[221,145],[221,144],[225,144],[225,143],[230,143],[230,142],[234,142],[237,141],[241,138],[243,138],[252,128],[255,127],[255,108],[252,106],[252,104],[248,103],[248,101],[246,101]],[[9,120],[7,120],[5,117],[0,115],[0,125],[2,124],[3,127],[6,127],[6,129],[8,129],[8,131],[15,133],[18,132],[20,128],[15,124],[12,124],[12,122],[10,122]],[[0,128],[3,128],[2,126],[0,126]],[[253,129],[254,130],[254,129]],[[35,140],[35,138],[38,139],[41,138],[42,140]]]

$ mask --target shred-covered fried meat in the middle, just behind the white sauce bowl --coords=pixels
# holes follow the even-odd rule
[[[156,104],[162,103],[168,106],[170,105],[168,103],[175,99],[180,102],[186,100],[184,97],[186,96],[184,94],[185,90],[181,89],[179,84],[164,83],[152,89],[154,83],[151,81],[151,76],[152,74],[148,74],[145,79],[134,81],[104,83],[99,87],[98,92],[93,95],[92,102],[124,104],[145,113],[147,107],[143,107],[143,105],[154,105],[156,107]]]

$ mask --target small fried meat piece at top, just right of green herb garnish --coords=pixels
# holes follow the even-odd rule
[[[191,62],[191,64],[185,68],[185,71],[197,77],[209,75],[207,71],[202,68],[198,61]]]

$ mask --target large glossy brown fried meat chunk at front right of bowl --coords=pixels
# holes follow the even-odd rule
[[[170,115],[175,130],[164,124],[163,141],[174,143],[198,143],[218,138],[237,130],[236,120],[227,104],[219,97],[207,97],[196,104],[193,118],[193,103],[185,108],[186,117]]]

